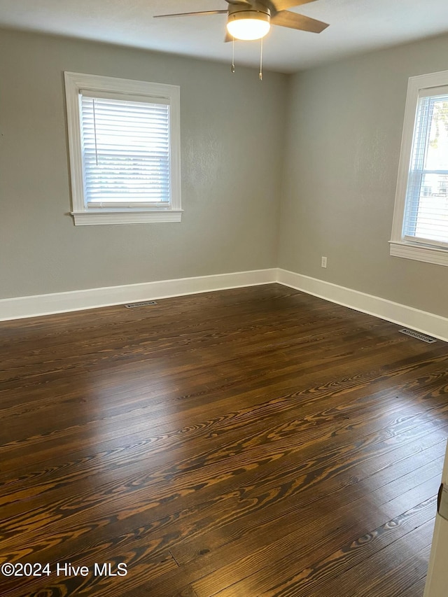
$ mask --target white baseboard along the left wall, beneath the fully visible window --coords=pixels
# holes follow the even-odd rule
[[[113,304],[125,304],[142,300],[155,300],[167,297],[207,293],[211,290],[257,286],[276,281],[276,268],[257,269],[252,272],[235,272],[215,276],[197,276],[178,280],[162,280],[72,290],[66,293],[15,297],[0,300],[0,321],[36,317],[66,311],[82,311],[97,307],[109,307]]]

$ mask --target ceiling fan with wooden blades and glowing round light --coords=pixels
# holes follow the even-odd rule
[[[263,38],[271,24],[321,33],[327,23],[298,15],[287,8],[314,2],[315,0],[225,0],[227,10],[201,10],[195,13],[155,15],[155,18],[186,17],[196,15],[228,15],[225,41],[233,39],[252,40]]]

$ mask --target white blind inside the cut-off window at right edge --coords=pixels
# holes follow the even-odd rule
[[[403,238],[448,246],[448,94],[423,96],[416,111]]]

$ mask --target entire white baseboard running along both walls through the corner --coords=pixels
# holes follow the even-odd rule
[[[213,290],[258,286],[273,282],[386,319],[392,323],[398,323],[406,328],[448,342],[448,318],[275,267],[256,269],[251,272],[234,272],[232,274],[216,274],[215,276],[197,276],[195,278],[1,299],[0,321],[109,307],[127,302],[207,293]]]

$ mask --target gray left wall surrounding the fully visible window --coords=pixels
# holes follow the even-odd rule
[[[181,224],[74,227],[63,71],[181,86]],[[287,77],[0,31],[0,298],[276,266]]]

